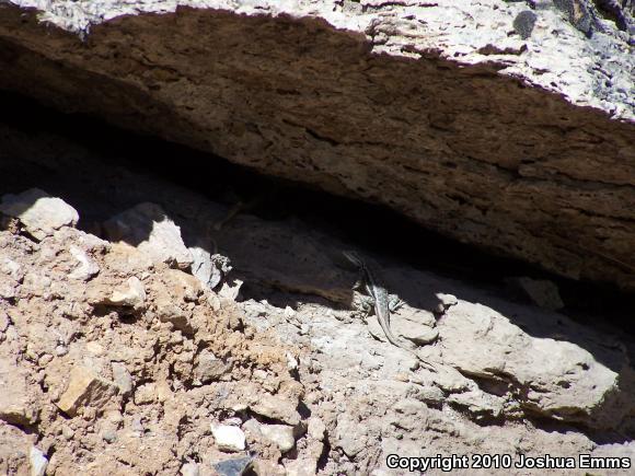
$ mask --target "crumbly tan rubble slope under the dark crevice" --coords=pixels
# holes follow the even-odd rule
[[[18,147],[0,133],[2,158]],[[139,224],[130,210],[151,199],[178,230],[164,242],[173,252],[209,247],[209,224],[227,216],[54,137],[13,133],[27,151],[20,170],[50,156],[64,164],[22,174],[34,181],[24,188],[67,190],[80,225],[95,210],[101,222]],[[150,235],[153,216],[146,220]],[[406,302],[394,332],[418,341],[431,372],[386,343],[374,318],[351,313],[356,276],[335,257],[355,244],[249,214],[211,230],[233,267],[215,290],[155,259],[137,235],[113,243],[62,227],[38,241],[20,223],[0,231],[0,379],[15,382],[0,394],[0,472],[216,476],[252,466],[259,476],[380,476],[395,474],[389,454],[450,453],[635,462],[633,339],[600,329],[602,315],[593,329],[374,256]],[[73,275],[85,263],[94,272]],[[67,399],[72,413],[60,409]]]

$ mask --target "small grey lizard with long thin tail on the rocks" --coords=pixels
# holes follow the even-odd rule
[[[409,347],[401,343],[390,328],[390,313],[399,310],[404,304],[404,302],[396,295],[389,294],[385,287],[381,283],[381,281],[379,281],[376,270],[369,266],[369,264],[366,263],[357,252],[344,251],[343,254],[359,270],[360,280],[354,285],[353,289],[357,290],[359,288],[363,288],[366,291],[367,295],[363,297],[360,302],[362,311],[365,311],[368,315],[374,309],[374,314],[381,328],[383,329],[383,333],[385,334],[386,339],[393,346],[400,347],[411,352],[418,360],[427,364],[428,368],[435,370],[434,364],[425,361]]]

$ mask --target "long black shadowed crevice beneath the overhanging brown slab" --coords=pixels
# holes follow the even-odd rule
[[[612,286],[565,279],[527,263],[501,258],[484,248],[426,231],[386,207],[328,196],[303,184],[263,176],[250,169],[230,164],[222,158],[137,136],[97,118],[60,114],[15,94],[0,92],[0,100],[5,112],[2,118],[5,126],[23,133],[36,133],[44,140],[51,133],[65,137],[93,151],[109,166],[166,178],[228,206],[235,205],[238,200],[255,199],[256,205],[246,212],[266,220],[297,217],[386,258],[393,257],[419,269],[477,282],[484,289],[505,286],[505,278],[510,276],[549,279],[559,287],[566,304],[565,312],[589,323],[596,321],[596,313],[602,313],[607,322],[613,322],[625,332],[632,329],[623,316],[635,305],[635,294]],[[35,181],[44,188],[74,195],[88,206],[82,210],[80,228],[90,228],[120,207],[115,202],[104,202],[102,206],[90,202],[88,198],[94,190],[84,189],[81,184],[70,185],[77,179],[76,176],[81,175],[81,163],[74,163],[76,170],[69,171],[64,169],[67,165],[60,169],[64,163],[61,155],[33,161],[28,158],[33,152],[26,152],[24,144],[13,143],[14,139],[8,136],[2,140],[7,147],[0,155],[0,171],[4,177],[10,177],[9,182],[0,183],[3,193],[19,191]],[[178,158],[178,161],[164,162],[159,159],[163,156]],[[89,171],[86,172],[90,174]],[[76,189],[71,189],[73,187]],[[108,184],[107,187],[116,190],[116,184]],[[151,199],[148,197],[148,200]],[[466,198],[457,196],[455,199],[469,204]],[[513,293],[509,295],[515,297]],[[516,294],[516,299],[522,301],[524,298]]]

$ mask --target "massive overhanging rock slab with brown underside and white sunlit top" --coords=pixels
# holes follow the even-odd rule
[[[631,16],[620,30],[579,0],[0,9],[0,88],[635,289]]]

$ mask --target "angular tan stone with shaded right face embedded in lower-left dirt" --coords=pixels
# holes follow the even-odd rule
[[[68,386],[57,403],[65,414],[74,417],[82,407],[105,407],[117,394],[117,386],[91,369],[73,367]]]

